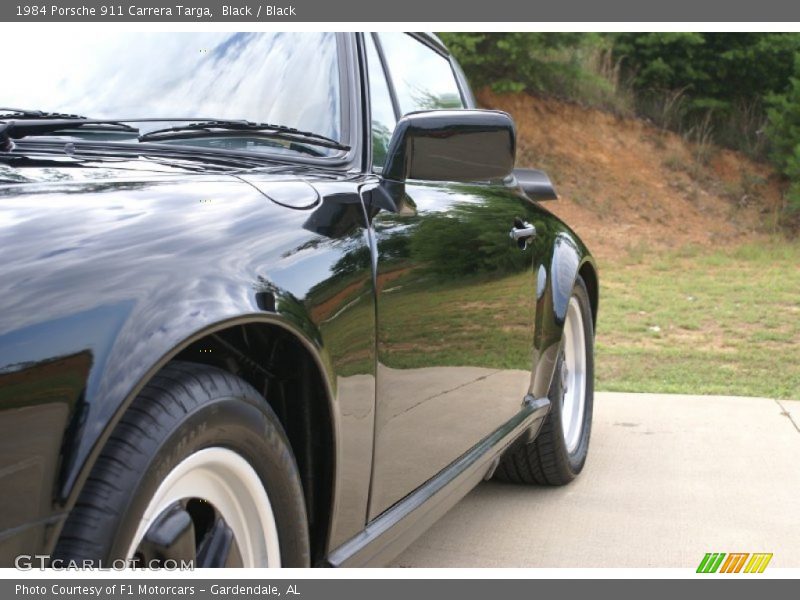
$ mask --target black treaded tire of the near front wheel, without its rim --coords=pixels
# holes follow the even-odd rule
[[[230,373],[177,361],[147,384],[116,425],[54,559],[99,565],[125,559],[158,486],[181,461],[207,448],[233,450],[255,470],[274,514],[281,566],[308,566],[302,485],[275,413]]]

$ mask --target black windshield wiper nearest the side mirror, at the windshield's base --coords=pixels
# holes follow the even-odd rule
[[[337,142],[329,137],[300,131],[285,125],[271,125],[269,123],[253,123],[252,121],[199,121],[188,125],[179,125],[167,129],[148,131],[139,136],[140,142],[156,142],[161,140],[192,139],[200,137],[230,137],[231,132],[246,132],[255,137],[279,139],[289,142],[321,146],[333,150],[349,150],[350,146]]]

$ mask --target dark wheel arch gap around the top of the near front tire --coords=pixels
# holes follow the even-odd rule
[[[279,314],[249,314],[210,324],[174,345],[139,378],[116,408],[113,418],[102,424],[102,431],[86,460],[79,465],[77,476],[71,485],[66,482],[62,489],[65,508],[74,506],[114,427],[136,396],[171,361],[188,360],[214,365],[241,377],[276,412],[298,461],[312,538],[312,561],[324,555],[333,508],[339,434],[333,401],[336,391],[325,350],[313,332],[306,329]],[[283,362],[277,366],[270,365],[269,357],[261,353],[269,340],[280,340],[288,348],[283,354]],[[291,361],[293,369],[291,376],[286,371],[288,361]],[[270,391],[264,387],[267,373],[294,380],[294,385],[289,385],[299,392],[297,397],[300,401],[296,406],[282,406],[278,398],[271,397]],[[320,418],[323,425],[320,427],[317,422],[315,432],[320,435],[307,435],[309,431],[304,427],[315,425],[314,420]],[[59,535],[53,536],[53,542]]]

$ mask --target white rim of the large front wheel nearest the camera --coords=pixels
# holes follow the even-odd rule
[[[159,485],[128,549],[132,559],[153,520],[175,502],[210,503],[233,532],[245,567],[280,567],[278,529],[261,479],[242,456],[206,448],[181,461]]]

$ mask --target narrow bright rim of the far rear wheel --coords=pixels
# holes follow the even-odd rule
[[[586,404],[586,339],[583,314],[578,299],[572,296],[564,322],[564,361],[561,372],[561,426],[567,452],[578,447],[583,432]]]

